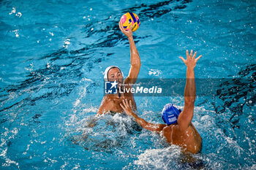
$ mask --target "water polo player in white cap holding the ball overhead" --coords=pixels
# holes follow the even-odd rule
[[[129,31],[124,30],[124,27],[122,26],[122,23],[119,22],[119,28],[123,32],[124,35],[126,35],[129,39],[129,47],[130,47],[130,53],[131,53],[131,68],[129,69],[128,77],[124,80],[124,84],[132,85],[136,82],[138,74],[140,72],[140,55],[138,53],[138,50],[135,46],[135,42],[132,37],[132,26],[130,26]],[[104,74],[105,81],[118,82],[118,86],[123,83],[124,74],[121,72],[121,69],[118,68],[118,66],[109,66],[105,70]],[[119,88],[118,88],[119,89]],[[137,109],[135,104],[135,99],[133,98],[132,93],[118,93],[117,94],[111,94],[111,95],[105,95],[102,99],[102,103],[99,106],[99,110],[97,114],[101,115],[104,113],[109,112],[124,112],[124,109],[121,108],[120,104],[125,99],[128,98],[132,102],[132,109]]]

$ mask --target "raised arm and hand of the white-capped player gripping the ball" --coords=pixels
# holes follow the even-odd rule
[[[140,55],[138,53],[138,50],[135,46],[135,42],[132,37],[132,26],[131,28],[129,28],[129,31],[125,31],[124,27],[122,26],[122,23],[119,22],[119,28],[124,33],[124,35],[126,35],[129,39],[129,49],[131,53],[131,68],[129,69],[128,77],[124,80],[124,83],[134,84],[140,72]]]

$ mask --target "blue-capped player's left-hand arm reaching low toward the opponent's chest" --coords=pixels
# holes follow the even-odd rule
[[[125,99],[123,100],[123,104],[120,104],[120,106],[124,109],[124,111],[127,113],[127,115],[135,117],[135,121],[139,123],[143,128],[146,128],[148,131],[155,131],[157,133],[160,133],[163,128],[165,128],[165,124],[154,124],[154,123],[148,123],[143,118],[138,117],[134,112],[132,112],[132,101],[128,101]]]

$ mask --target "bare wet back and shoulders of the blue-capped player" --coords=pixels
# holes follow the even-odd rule
[[[162,130],[162,135],[165,136],[168,143],[176,144],[183,148],[184,151],[197,153],[202,148],[202,139],[192,123],[190,123],[187,131],[184,132],[179,131],[178,125],[166,126]]]

